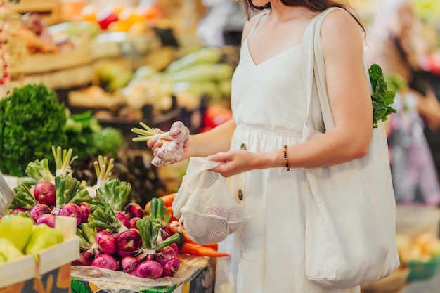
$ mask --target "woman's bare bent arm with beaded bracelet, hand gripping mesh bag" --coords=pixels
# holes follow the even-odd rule
[[[373,107],[363,63],[363,32],[344,11],[332,11],[321,28],[325,74],[335,128],[310,141],[287,148],[290,167],[325,167],[368,152],[373,133]],[[284,167],[283,145],[270,152],[241,150],[216,154],[224,162],[213,169],[224,176],[240,171]]]

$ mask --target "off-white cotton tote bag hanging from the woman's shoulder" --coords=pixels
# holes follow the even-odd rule
[[[333,9],[337,8],[316,16],[304,34],[308,117],[303,141],[335,126],[321,48],[321,23]],[[365,74],[368,77],[366,70]],[[304,171],[313,195],[306,204],[306,277],[323,287],[347,288],[390,275],[399,266],[399,255],[396,202],[382,123],[373,129],[365,157]]]

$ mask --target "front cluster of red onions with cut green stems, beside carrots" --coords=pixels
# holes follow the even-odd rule
[[[159,199],[145,218],[138,204],[127,204],[125,212],[120,212],[129,222],[134,221],[127,228],[109,204],[97,207],[89,216],[89,223],[78,226],[82,252],[75,264],[124,271],[140,278],[174,276],[180,266],[176,242],[181,236],[175,233],[167,237],[162,233],[164,211]]]

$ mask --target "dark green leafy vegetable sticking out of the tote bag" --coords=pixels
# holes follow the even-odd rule
[[[396,110],[390,105],[394,102],[395,91],[389,91],[387,81],[384,78],[382,68],[373,64],[368,69],[371,85],[373,86],[373,94],[371,102],[373,104],[373,128],[377,128],[377,123],[386,121],[388,115],[395,113]]]

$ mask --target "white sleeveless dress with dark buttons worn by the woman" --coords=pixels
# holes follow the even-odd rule
[[[232,80],[237,128],[231,150],[264,152],[299,143],[306,121],[301,44],[260,64],[252,60],[247,39],[240,50]],[[252,170],[230,180],[234,200],[252,221],[219,243],[231,257],[217,259],[215,293],[360,292],[323,289],[306,278],[304,211],[311,190],[302,168]]]

